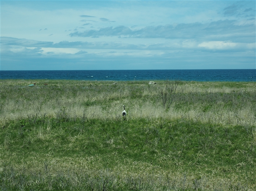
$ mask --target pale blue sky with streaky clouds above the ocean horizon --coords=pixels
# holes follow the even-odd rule
[[[256,1],[1,0],[0,70],[256,69]]]

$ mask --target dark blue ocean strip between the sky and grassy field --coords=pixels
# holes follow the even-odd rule
[[[256,70],[12,70],[0,71],[0,79],[256,81]]]

